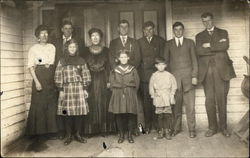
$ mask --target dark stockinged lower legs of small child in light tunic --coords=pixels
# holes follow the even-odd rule
[[[172,128],[172,114],[162,113],[162,114],[157,114],[157,116],[160,129]]]

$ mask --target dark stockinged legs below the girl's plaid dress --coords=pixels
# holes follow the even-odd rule
[[[73,133],[80,134],[83,116],[64,116],[66,135],[70,136]]]

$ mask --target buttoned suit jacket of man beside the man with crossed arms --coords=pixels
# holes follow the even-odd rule
[[[175,39],[167,41],[164,58],[168,63],[169,71],[176,78],[178,89],[181,88],[181,85],[185,92],[192,89],[192,78],[197,78],[198,75],[194,41],[183,38],[183,43],[180,47],[177,47]]]

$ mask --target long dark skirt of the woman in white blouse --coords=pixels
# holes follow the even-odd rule
[[[31,105],[27,121],[27,135],[41,135],[57,132],[57,97],[54,84],[54,67],[37,66],[35,73],[42,85],[37,91],[32,83]]]

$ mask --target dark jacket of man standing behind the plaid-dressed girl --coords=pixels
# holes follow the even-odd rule
[[[78,42],[78,47],[79,47],[79,55],[82,56],[82,54],[84,53],[84,41],[80,38],[77,38],[75,36],[72,35],[72,38],[74,38],[77,42]],[[64,47],[63,47],[63,38],[62,36],[59,38],[56,38],[54,40],[52,40],[52,44],[55,45],[56,47],[56,56],[55,56],[55,65],[58,64],[59,60],[61,57],[63,57],[64,55]]]

